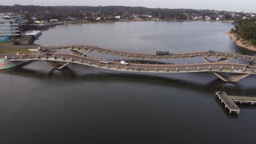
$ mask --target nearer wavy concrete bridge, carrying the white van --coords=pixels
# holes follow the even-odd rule
[[[101,64],[100,59],[72,55],[68,53],[51,53],[51,55],[33,54],[28,57],[21,55],[0,55],[0,58],[6,58],[8,61],[38,61],[41,60],[53,69],[61,69],[69,63],[78,63],[91,67],[131,71],[139,73],[198,73],[211,71],[220,79],[226,82],[236,82],[244,77],[256,74],[256,67],[236,63],[199,63],[199,64],[129,64],[122,65],[120,62],[110,62]],[[57,62],[66,62],[60,65]],[[222,73],[231,73],[231,76],[223,76]]]

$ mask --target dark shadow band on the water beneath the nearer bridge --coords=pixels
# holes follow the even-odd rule
[[[25,65],[30,64],[30,62]],[[235,93],[243,94],[246,92],[255,92],[256,86],[243,87],[241,83],[226,83],[217,77],[210,81],[193,81],[187,79],[177,79],[176,77],[164,77],[157,75],[142,75],[142,74],[127,74],[127,73],[101,73],[99,71],[86,71],[85,73],[80,73],[69,67],[65,67],[61,70],[34,70],[24,68],[25,65],[18,66],[15,68],[7,69],[1,71],[2,74],[10,75],[21,75],[27,77],[33,77],[33,79],[54,79],[56,81],[75,81],[75,82],[130,82],[130,83],[144,83],[147,85],[158,85],[174,88],[188,89],[189,91],[202,92],[207,95],[213,95],[215,91],[225,91],[232,95]],[[181,77],[187,74],[179,74]],[[198,78],[198,76],[204,77],[208,76],[208,72],[200,73],[190,73],[189,76]],[[188,75],[187,75],[188,76]],[[201,79],[201,78],[200,78]],[[179,91],[179,89],[177,89]]]

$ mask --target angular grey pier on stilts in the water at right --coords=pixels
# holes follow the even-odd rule
[[[240,108],[236,105],[236,103],[240,103],[240,104],[249,103],[252,105],[256,103],[256,97],[233,96],[233,95],[228,95],[222,91],[217,91],[216,96],[221,100],[222,103],[225,104],[225,108],[229,109],[229,113],[240,112]]]

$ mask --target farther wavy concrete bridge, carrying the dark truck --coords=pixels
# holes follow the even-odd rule
[[[38,50],[56,50],[56,49],[67,49],[74,55],[87,55],[90,51],[101,52],[107,55],[129,57],[129,58],[141,58],[141,59],[174,59],[174,58],[191,58],[191,57],[213,57],[220,58],[217,62],[226,62],[231,58],[243,59],[245,61],[256,61],[256,56],[241,55],[231,52],[221,51],[195,51],[195,52],[182,52],[182,53],[170,53],[169,55],[156,55],[155,53],[136,53],[119,51],[113,49],[106,49],[99,46],[93,45],[56,45],[56,46],[39,46]],[[37,49],[36,49],[37,50]],[[79,53],[78,50],[86,50],[85,54]],[[208,59],[206,61],[210,62]]]

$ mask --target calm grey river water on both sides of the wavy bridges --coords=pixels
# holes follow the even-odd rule
[[[90,23],[57,26],[44,31],[35,43],[255,55],[222,34],[231,28],[223,22]],[[93,52],[90,56],[121,59]],[[78,64],[51,70],[43,62],[28,62],[0,71],[0,142],[254,143],[255,106],[242,105],[238,116],[230,115],[214,97],[215,91],[255,96],[254,79],[225,83],[212,73],[143,75]]]

